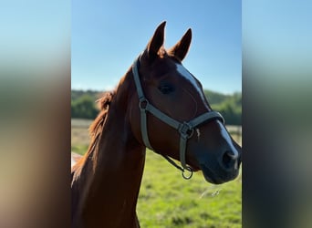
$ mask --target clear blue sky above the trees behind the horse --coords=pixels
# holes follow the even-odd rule
[[[82,1],[71,3],[72,88],[114,88],[167,21],[165,47],[192,28],[183,65],[203,88],[242,91],[241,1]]]

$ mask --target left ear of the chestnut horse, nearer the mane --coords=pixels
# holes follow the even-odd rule
[[[165,26],[166,22],[164,21],[156,28],[155,33],[151,37],[151,40],[146,48],[147,54],[151,60],[158,56],[158,52],[163,45]]]

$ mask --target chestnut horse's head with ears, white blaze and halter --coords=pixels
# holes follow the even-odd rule
[[[182,65],[192,30],[166,50],[164,27],[165,22],[157,27],[133,65],[137,95],[130,98],[132,131],[141,144],[181,161],[182,171],[202,170],[205,180],[215,184],[234,180],[241,148],[209,105],[201,82]]]

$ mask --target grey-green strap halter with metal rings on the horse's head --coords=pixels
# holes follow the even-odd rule
[[[209,111],[206,113],[203,113],[202,115],[188,121],[188,122],[180,122],[175,119],[172,119],[171,117],[164,114],[160,109],[155,108],[147,98],[145,98],[143,89],[140,85],[140,75],[139,75],[139,67],[140,67],[140,57],[138,57],[133,65],[132,65],[132,73],[134,77],[134,82],[137,88],[138,96],[139,96],[139,108],[140,108],[140,130],[142,135],[142,140],[144,142],[144,145],[148,148],[152,149],[151,143],[149,140],[148,130],[147,130],[147,119],[146,119],[146,113],[149,111],[154,117],[161,119],[162,122],[170,125],[173,129],[178,130],[180,133],[180,161],[181,166],[179,166],[177,163],[172,161],[172,159],[167,156],[161,154],[162,157],[164,157],[167,161],[169,161],[174,167],[182,171],[182,176],[184,179],[191,179],[192,178],[192,168],[186,164],[185,161],[185,152],[186,152],[186,142],[187,140],[192,138],[194,128],[198,125],[202,124],[206,121],[211,121],[213,119],[219,119],[222,120],[224,123],[223,116],[217,112],[217,111]],[[155,150],[154,150],[155,151]],[[185,171],[190,171],[189,175],[185,175]]]

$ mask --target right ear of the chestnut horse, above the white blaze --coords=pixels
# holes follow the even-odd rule
[[[189,51],[191,40],[192,40],[192,29],[189,28],[187,32],[184,34],[184,36],[182,36],[181,40],[175,46],[169,49],[168,53],[182,62],[183,58]]]

